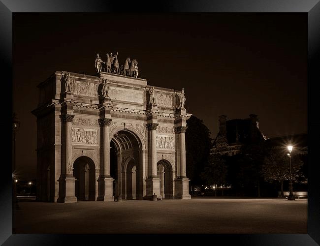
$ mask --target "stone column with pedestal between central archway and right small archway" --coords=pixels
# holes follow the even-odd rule
[[[146,128],[149,130],[149,153],[151,172],[148,174],[146,197],[145,199],[152,199],[152,196],[156,194],[160,196],[160,179],[157,176],[157,127],[159,123],[148,123]]]

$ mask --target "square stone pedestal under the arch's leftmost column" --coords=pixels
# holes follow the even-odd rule
[[[72,203],[77,202],[78,199],[74,195],[74,184],[76,179],[74,177],[66,177],[59,179],[59,198],[57,202]]]

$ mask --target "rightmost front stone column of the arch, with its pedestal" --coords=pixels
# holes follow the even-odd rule
[[[189,194],[189,179],[186,177],[186,126],[178,126],[174,128],[175,133],[179,134],[180,140],[180,175],[176,179],[175,198],[176,199],[191,199]]]

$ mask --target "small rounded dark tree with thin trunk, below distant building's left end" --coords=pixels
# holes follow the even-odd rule
[[[202,180],[208,185],[225,184],[227,174],[227,166],[224,158],[219,154],[212,154],[208,158],[208,163],[204,167],[204,171],[200,174]],[[215,196],[217,190],[215,189]]]

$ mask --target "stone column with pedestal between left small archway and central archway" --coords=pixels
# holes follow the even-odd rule
[[[100,125],[100,134],[102,134],[102,142],[103,148],[100,151],[102,154],[100,155],[102,158],[100,159],[100,163],[103,163],[103,169],[100,166],[100,177],[98,179],[99,190],[97,201],[114,201],[113,197],[113,181],[110,176],[110,139],[109,139],[109,126],[111,124],[112,119],[99,119]],[[101,139],[101,138],[100,138]]]

